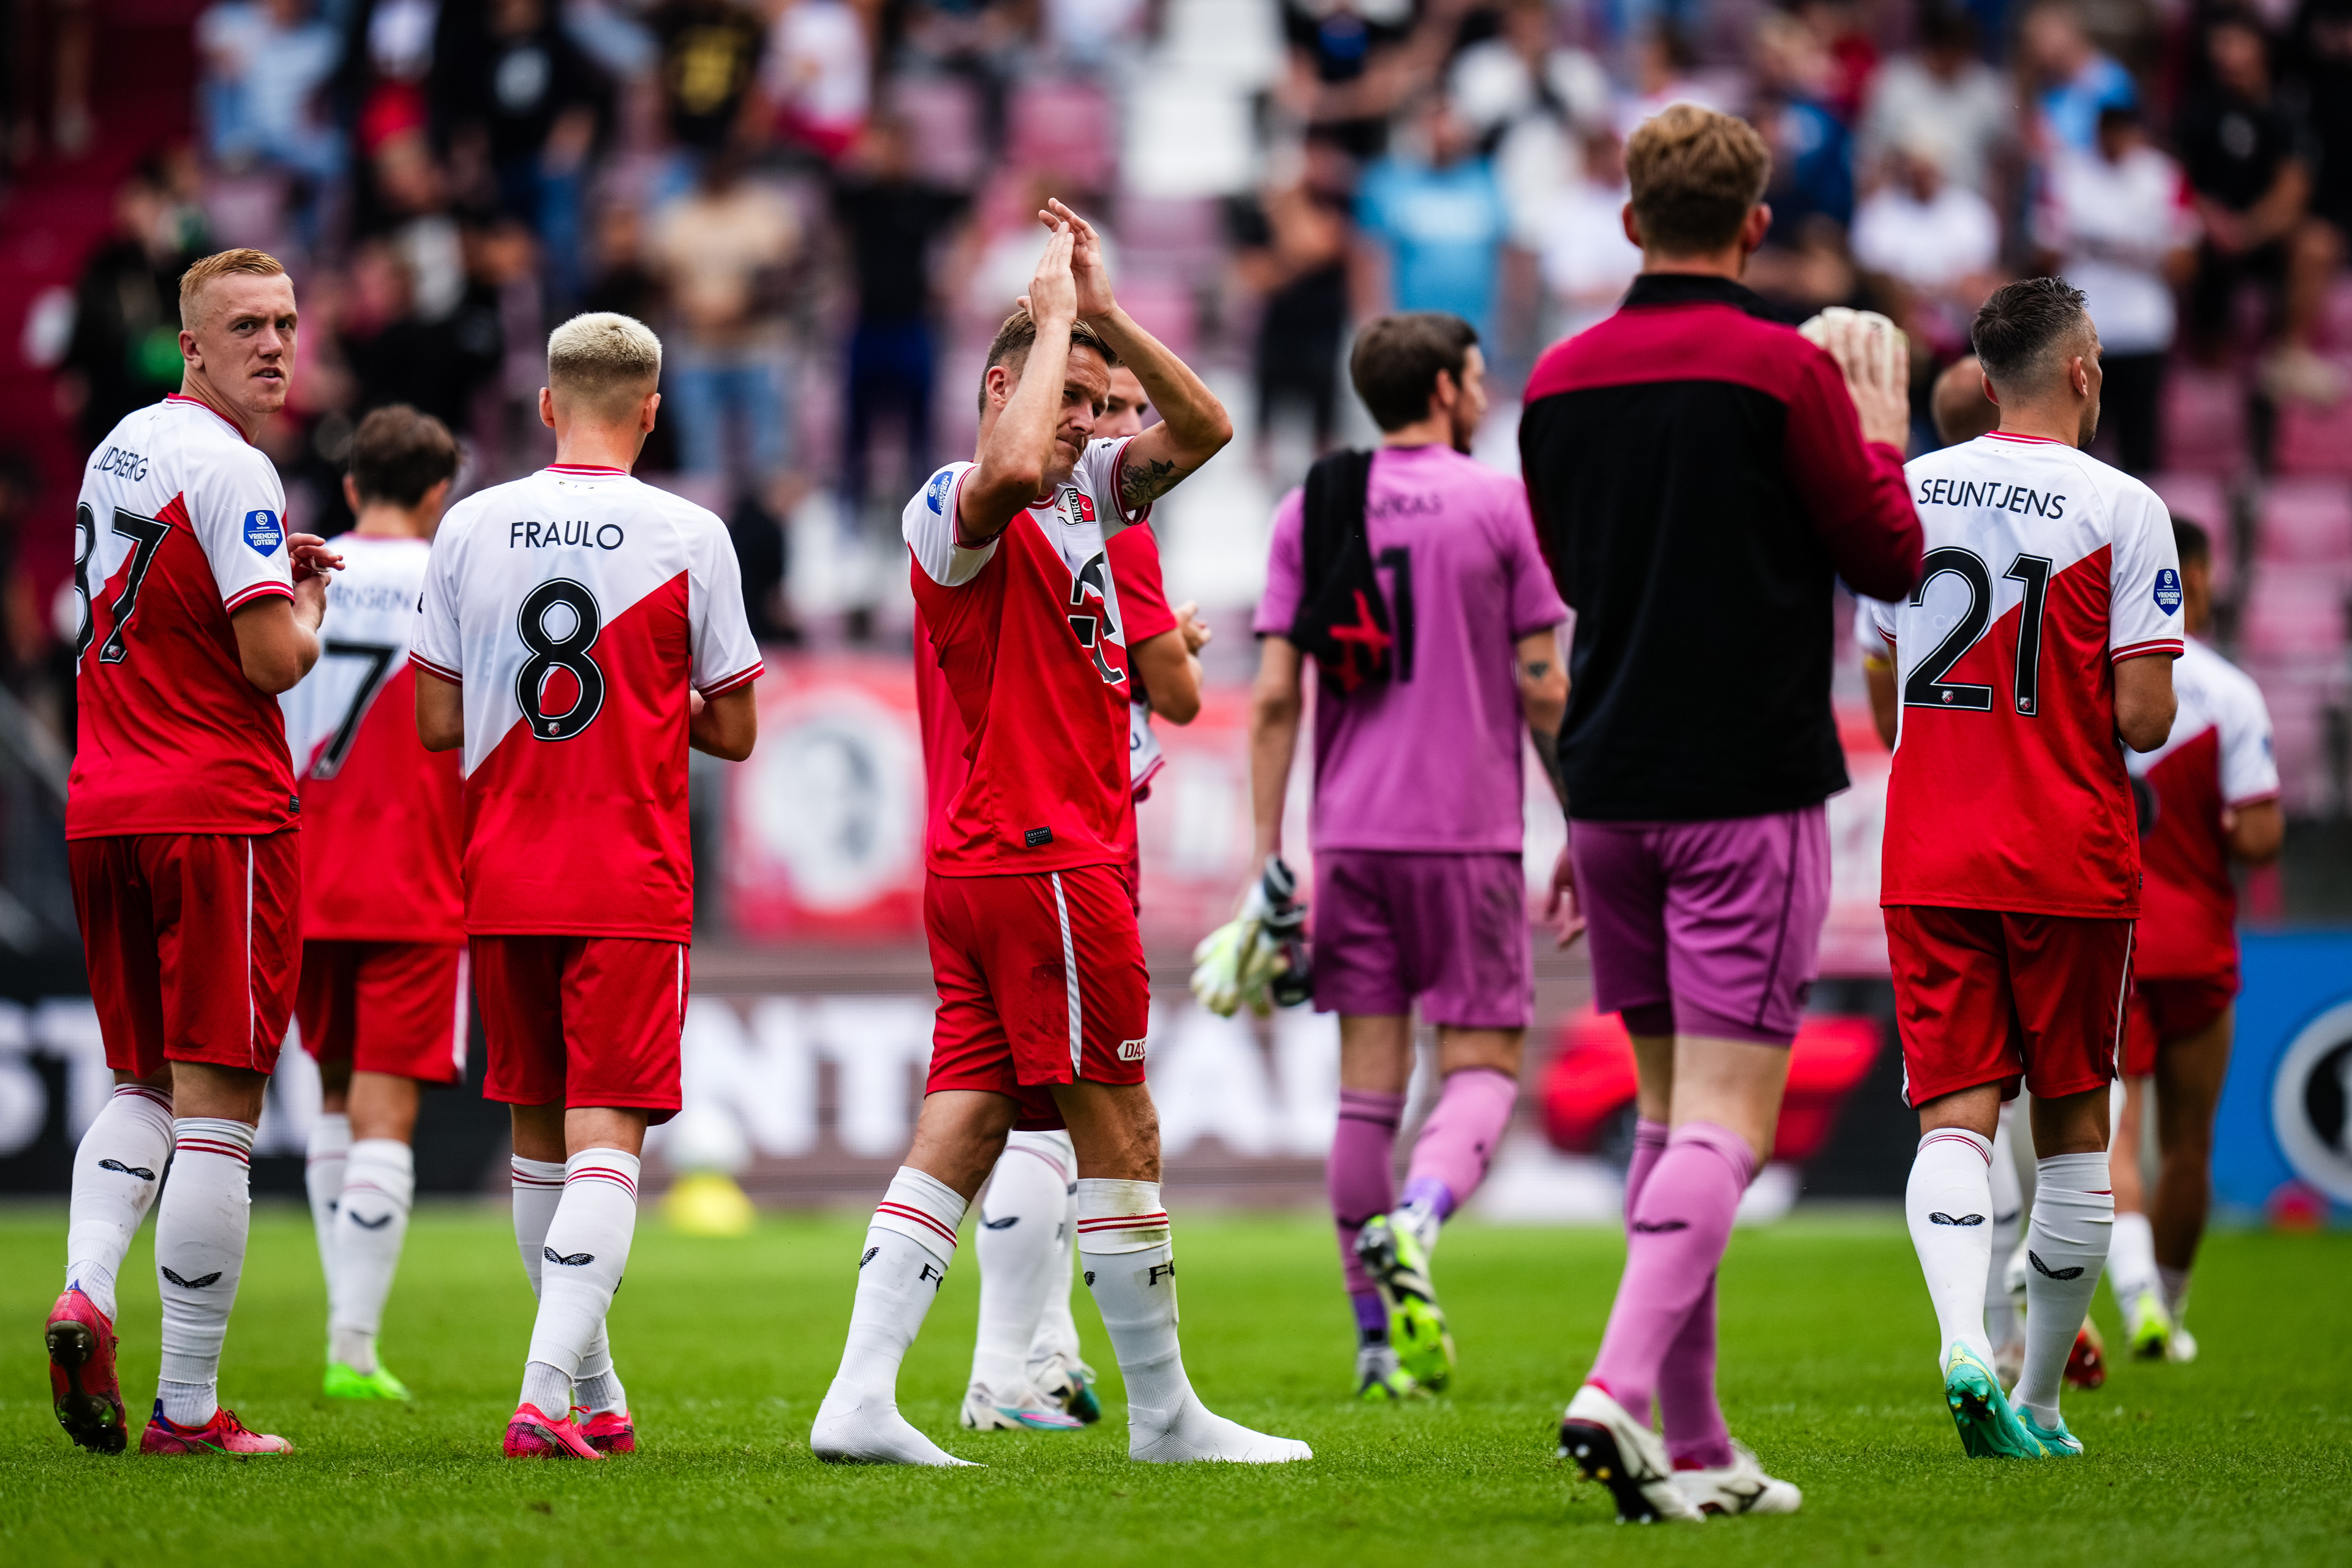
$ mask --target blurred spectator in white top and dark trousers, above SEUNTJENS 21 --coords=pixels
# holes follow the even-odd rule
[[[2058,153],[2044,169],[2034,244],[2044,263],[2089,296],[2107,374],[2103,428],[2126,473],[2161,465],[2164,355],[2173,346],[2173,289],[2197,268],[2197,209],[2187,176],[2147,146],[2133,108],[2098,118],[2089,153]]]

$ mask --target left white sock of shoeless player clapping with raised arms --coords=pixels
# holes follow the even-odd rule
[[[898,1415],[898,1363],[955,1262],[964,1199],[948,1182],[898,1166],[858,1255],[858,1295],[833,1387],[809,1427],[809,1450],[837,1465],[964,1465]]]

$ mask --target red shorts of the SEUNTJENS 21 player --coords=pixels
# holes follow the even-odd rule
[[[2129,919],[1886,907],[1903,1093],[1912,1105],[1978,1084],[2011,1100],[2114,1079],[2131,987]]]

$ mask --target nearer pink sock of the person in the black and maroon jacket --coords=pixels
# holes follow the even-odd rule
[[[1677,1340],[1693,1309],[1715,1288],[1715,1265],[1724,1258],[1731,1215],[1752,1175],[1755,1152],[1738,1133],[1712,1121],[1684,1121],[1668,1135],[1665,1152],[1642,1182],[1625,1227],[1625,1276],[1588,1378],[1637,1420],[1649,1413],[1658,1371],[1679,1349]],[[1708,1385],[1712,1340],[1708,1333]]]

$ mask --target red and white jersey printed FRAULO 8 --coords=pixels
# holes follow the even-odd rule
[[[619,468],[468,496],[409,658],[466,689],[466,933],[689,940],[687,686],[762,670],[727,524]]]

